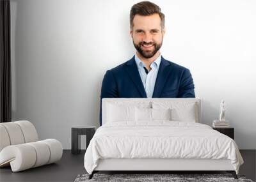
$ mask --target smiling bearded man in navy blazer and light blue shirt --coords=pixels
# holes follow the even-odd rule
[[[108,70],[102,98],[195,98],[195,86],[188,68],[161,56],[165,33],[161,8],[149,1],[134,4],[130,11],[130,34],[135,55]]]

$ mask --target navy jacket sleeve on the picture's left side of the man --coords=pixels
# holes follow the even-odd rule
[[[108,70],[102,80],[100,94],[100,126],[102,125],[102,98],[118,98],[117,84],[111,70]]]

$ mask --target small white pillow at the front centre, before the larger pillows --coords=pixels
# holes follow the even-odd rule
[[[171,120],[170,108],[168,109],[148,109],[135,108],[136,121]]]

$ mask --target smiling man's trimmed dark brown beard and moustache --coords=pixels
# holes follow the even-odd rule
[[[138,44],[135,44],[133,42],[133,45],[134,45],[135,49],[141,54],[142,57],[145,57],[145,58],[148,59],[148,58],[153,57],[156,54],[156,52],[161,48],[162,43],[163,43],[163,41],[160,44],[157,44],[157,43],[154,43],[154,42],[149,42],[149,43],[140,42]],[[152,50],[142,50],[141,46],[143,44],[145,44],[145,45],[153,45],[154,48]]]

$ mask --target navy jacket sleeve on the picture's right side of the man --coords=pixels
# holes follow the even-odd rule
[[[195,86],[190,71],[185,68],[181,79],[178,98],[195,98]]]

